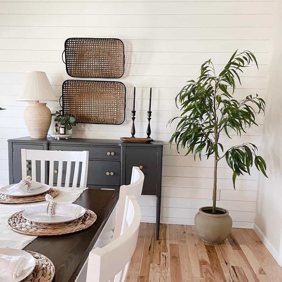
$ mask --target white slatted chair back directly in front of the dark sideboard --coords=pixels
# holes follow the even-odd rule
[[[58,162],[57,187],[62,186],[63,162],[66,162],[65,187],[70,186],[71,162],[75,162],[72,187],[77,187],[79,166],[81,165],[80,187],[85,188],[88,172],[88,151],[47,151],[21,149],[22,178],[27,176],[26,162],[31,160],[31,178],[36,180],[36,161],[40,161],[40,182],[45,183],[45,162],[49,162],[49,186],[54,184],[54,162]]]

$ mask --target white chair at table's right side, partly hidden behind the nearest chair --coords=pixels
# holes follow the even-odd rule
[[[127,195],[133,195],[136,197],[137,201],[140,197],[144,184],[144,174],[137,167],[132,167],[131,173],[131,183],[129,185],[122,185],[119,190],[119,198],[118,198],[118,212],[115,223],[115,228],[112,236],[112,240],[117,239],[121,235],[122,225],[123,225],[123,217],[126,214],[126,206],[125,199]]]

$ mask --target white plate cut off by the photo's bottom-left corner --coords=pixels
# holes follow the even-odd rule
[[[23,250],[12,249],[12,248],[0,248],[0,253],[5,254],[7,256],[25,256],[28,259],[28,263],[20,276],[18,276],[17,278],[13,278],[7,276],[6,273],[4,272],[0,272],[0,281],[19,282],[32,273],[35,267],[35,259],[30,253],[25,252]]]

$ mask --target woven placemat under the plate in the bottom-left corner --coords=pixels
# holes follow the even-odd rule
[[[31,274],[21,282],[51,282],[55,275],[55,266],[43,254],[27,251],[35,259],[35,267]]]

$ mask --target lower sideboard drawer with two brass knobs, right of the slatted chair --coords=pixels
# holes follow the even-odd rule
[[[89,160],[87,185],[120,186],[120,162]]]

